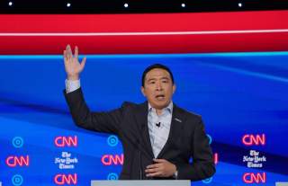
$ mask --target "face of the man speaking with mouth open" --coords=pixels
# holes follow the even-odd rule
[[[141,91],[153,108],[162,110],[171,102],[175,84],[166,70],[154,68],[146,74]]]

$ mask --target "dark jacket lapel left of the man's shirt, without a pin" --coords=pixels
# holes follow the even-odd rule
[[[154,157],[148,131],[148,102],[144,102],[139,105],[139,110],[136,113],[136,120],[139,125],[140,137],[144,142],[144,150],[148,153],[148,155]],[[141,141],[139,141],[139,143],[141,144]]]

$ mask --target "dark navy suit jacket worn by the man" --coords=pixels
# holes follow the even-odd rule
[[[64,94],[77,126],[112,133],[120,138],[124,153],[121,180],[151,179],[145,176],[145,167],[153,164],[155,158],[148,133],[148,102],[124,102],[121,108],[113,111],[92,112],[85,103],[81,88],[72,93],[64,91]],[[191,157],[193,163],[189,163]],[[211,177],[215,166],[201,116],[174,104],[169,136],[157,158],[175,164],[177,179],[197,181]]]

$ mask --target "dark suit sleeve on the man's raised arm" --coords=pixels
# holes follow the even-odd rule
[[[64,95],[77,126],[97,132],[118,133],[123,107],[108,112],[91,112],[85,103],[81,88],[71,93],[64,91]]]

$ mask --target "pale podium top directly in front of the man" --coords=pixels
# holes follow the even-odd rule
[[[91,186],[190,186],[189,180],[91,181]]]

